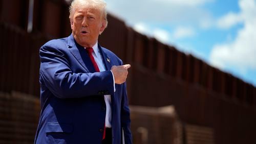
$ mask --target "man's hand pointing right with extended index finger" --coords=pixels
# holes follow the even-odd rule
[[[125,65],[114,65],[111,67],[111,71],[115,78],[116,84],[122,84],[126,81],[127,75],[128,75],[128,68],[130,68],[130,64]]]

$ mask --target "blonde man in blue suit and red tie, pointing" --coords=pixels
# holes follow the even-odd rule
[[[41,113],[34,143],[132,143],[125,80],[129,64],[98,44],[102,0],[74,0],[72,34],[44,44]]]

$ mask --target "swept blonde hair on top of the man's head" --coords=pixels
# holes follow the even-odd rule
[[[73,19],[76,9],[83,7],[93,7],[102,12],[102,16],[106,23],[108,23],[108,19],[106,18],[106,3],[103,0],[74,0],[69,7],[69,18]]]

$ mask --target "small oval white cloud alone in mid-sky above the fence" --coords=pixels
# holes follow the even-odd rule
[[[194,31],[193,28],[190,27],[178,27],[175,31],[174,31],[174,38],[175,39],[182,39],[182,38],[186,38],[186,37],[193,37],[196,34],[196,32]]]

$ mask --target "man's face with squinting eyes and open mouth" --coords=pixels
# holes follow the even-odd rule
[[[105,29],[102,13],[94,8],[79,8],[71,19],[71,29],[76,42],[83,47],[92,47]]]

